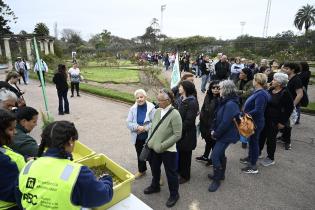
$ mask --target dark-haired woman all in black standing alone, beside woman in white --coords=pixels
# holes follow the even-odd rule
[[[53,82],[56,84],[57,95],[59,99],[58,107],[59,115],[70,114],[69,102],[67,98],[69,87],[67,83],[67,72],[65,65],[63,64],[58,65],[58,71],[54,75]]]

